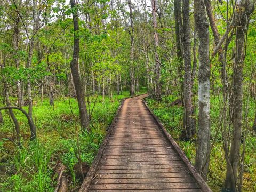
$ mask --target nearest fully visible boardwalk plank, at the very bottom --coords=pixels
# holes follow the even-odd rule
[[[99,189],[111,189],[111,190],[119,190],[119,189],[196,189],[199,188],[197,183],[138,183],[134,184],[96,184],[91,185],[90,190],[99,190]]]

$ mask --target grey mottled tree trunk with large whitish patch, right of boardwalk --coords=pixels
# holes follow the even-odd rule
[[[198,71],[198,134],[195,167],[206,179],[209,167],[207,154],[210,151],[210,57],[209,22],[206,17],[204,0],[194,0],[195,26],[199,39]],[[205,166],[204,166],[205,164]]]

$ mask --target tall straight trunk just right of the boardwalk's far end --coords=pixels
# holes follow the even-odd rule
[[[158,33],[157,33],[157,21],[156,21],[156,0],[151,1],[152,6],[152,18],[154,27],[154,49],[155,49],[155,98],[159,101],[162,94],[161,78],[161,61],[158,56]]]

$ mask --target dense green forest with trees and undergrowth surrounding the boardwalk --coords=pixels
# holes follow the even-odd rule
[[[148,93],[212,191],[256,191],[254,0],[0,3],[0,191],[81,186]]]

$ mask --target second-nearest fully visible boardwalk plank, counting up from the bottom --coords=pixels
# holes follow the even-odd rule
[[[137,183],[192,183],[195,182],[193,177],[176,177],[176,178],[114,178],[114,179],[94,179],[92,184],[137,184]]]

